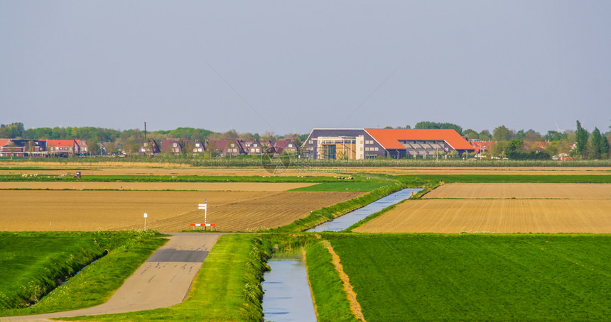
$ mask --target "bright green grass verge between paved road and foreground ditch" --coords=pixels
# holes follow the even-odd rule
[[[65,321],[262,321],[266,260],[258,235],[222,235],[210,250],[185,301],[151,311],[79,316]]]

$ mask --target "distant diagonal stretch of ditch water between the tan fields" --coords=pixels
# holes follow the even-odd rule
[[[408,188],[403,189],[401,191],[396,191],[394,194],[389,194],[384,198],[378,199],[377,201],[368,204],[362,208],[359,208],[350,213],[346,213],[343,216],[335,218],[333,221],[328,221],[319,226],[309,229],[309,232],[321,232],[321,231],[343,231],[344,229],[358,223],[360,220],[366,218],[367,216],[372,215],[373,213],[377,213],[382,209],[397,204],[405,199],[409,199],[411,194],[416,194],[418,191],[422,189],[417,188]]]

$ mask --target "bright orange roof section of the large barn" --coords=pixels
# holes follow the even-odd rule
[[[454,130],[407,130],[399,128],[365,128],[385,149],[404,149],[399,140],[445,140],[455,150],[473,150],[473,147]]]

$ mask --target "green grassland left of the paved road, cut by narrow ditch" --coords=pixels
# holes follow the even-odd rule
[[[0,315],[51,313],[104,303],[166,243],[156,238],[159,235],[154,231],[0,233]],[[104,250],[109,250],[108,255],[70,277]],[[24,307],[31,303],[36,304]]]

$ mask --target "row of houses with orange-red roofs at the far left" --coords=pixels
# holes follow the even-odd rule
[[[0,138],[0,157],[67,157],[89,152],[85,140]]]

